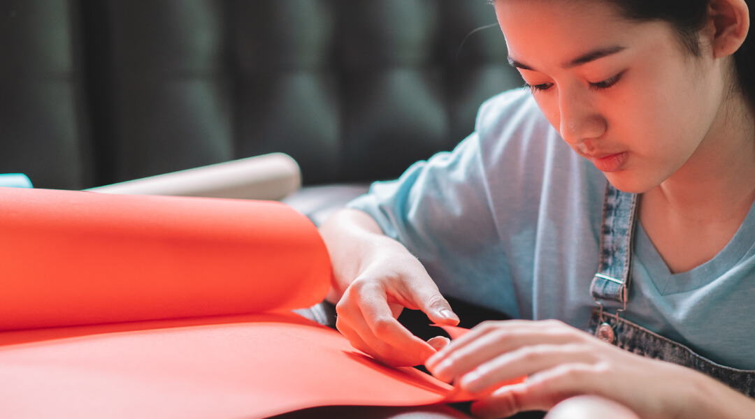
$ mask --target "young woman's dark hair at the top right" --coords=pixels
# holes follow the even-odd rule
[[[682,43],[696,56],[700,54],[698,32],[707,21],[710,0],[608,0],[632,20],[664,20],[670,23]],[[753,0],[745,0],[753,24]],[[752,29],[752,28],[751,28]],[[750,31],[752,34],[752,31]],[[734,54],[735,83],[755,108],[755,35],[748,35]]]

